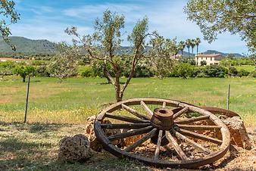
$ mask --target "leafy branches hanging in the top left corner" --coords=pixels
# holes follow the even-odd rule
[[[15,45],[12,45],[10,39],[8,39],[8,36],[11,35],[9,26],[11,23],[17,23],[17,20],[20,20],[20,14],[15,11],[15,3],[13,1],[1,0],[0,6],[0,36],[2,36],[2,39],[4,39],[4,41],[15,51]]]

